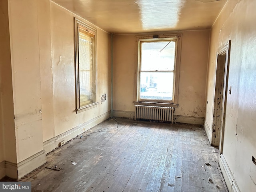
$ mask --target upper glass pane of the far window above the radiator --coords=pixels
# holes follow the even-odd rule
[[[175,41],[142,42],[142,71],[173,71],[175,62]]]

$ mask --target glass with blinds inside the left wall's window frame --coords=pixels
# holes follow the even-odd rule
[[[93,103],[94,73],[92,67],[92,42],[93,38],[86,34],[78,33],[78,61],[79,61],[79,91],[80,107]]]

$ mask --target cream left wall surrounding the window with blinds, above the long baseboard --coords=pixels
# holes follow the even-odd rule
[[[48,2],[46,2],[48,4]],[[97,28],[97,100],[107,94],[107,100],[96,108],[76,114],[74,72],[74,14],[50,2],[48,32],[42,34],[42,42],[48,48],[41,63],[42,114],[44,141],[58,136],[84,122],[110,111],[109,106],[109,44],[110,35]],[[81,18],[80,18],[81,19]],[[86,22],[84,20],[84,22]],[[50,30],[50,31],[49,31]],[[40,30],[42,32],[43,30]],[[47,37],[46,41],[44,38]],[[51,46],[51,47],[50,47]]]

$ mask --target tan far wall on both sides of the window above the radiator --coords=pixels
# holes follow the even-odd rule
[[[116,35],[113,43],[113,109],[133,117],[137,61],[135,35]],[[203,123],[209,30],[182,32],[177,122]]]

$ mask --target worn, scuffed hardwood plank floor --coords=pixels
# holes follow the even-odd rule
[[[76,163],[73,165],[72,163]],[[106,120],[25,176],[34,192],[225,192],[218,150],[190,124]]]

